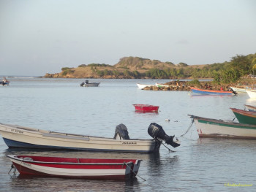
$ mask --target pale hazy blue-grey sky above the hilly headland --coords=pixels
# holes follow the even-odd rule
[[[0,75],[140,57],[214,64],[256,53],[255,0],[0,0]]]

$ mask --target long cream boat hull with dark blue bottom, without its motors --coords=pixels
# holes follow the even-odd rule
[[[53,150],[88,150],[124,153],[154,153],[161,142],[154,139],[112,139],[66,134],[0,124],[0,134],[6,145]]]

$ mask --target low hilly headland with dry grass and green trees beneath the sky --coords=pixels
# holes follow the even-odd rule
[[[217,85],[233,84],[256,72],[256,53],[236,55],[230,61],[218,64],[193,65],[150,60],[140,57],[124,57],[118,64],[82,64],[63,67],[60,73],[45,74],[52,78],[102,78],[102,79],[197,79],[209,78]],[[249,78],[251,79],[251,78]],[[248,81],[248,80],[246,80]],[[254,81],[254,80],[252,80]],[[248,82],[247,82],[248,83]],[[253,83],[253,82],[252,82]]]

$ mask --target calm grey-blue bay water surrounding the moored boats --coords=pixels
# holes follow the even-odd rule
[[[90,153],[8,149],[0,138],[0,191],[255,191],[256,141],[242,139],[198,139],[187,116],[233,120],[230,107],[256,105],[246,94],[238,96],[192,96],[189,91],[142,91],[136,82],[154,84],[170,80],[90,80],[98,88],[81,88],[83,80],[9,78],[0,87],[0,122],[92,136],[113,137],[124,123],[130,138],[151,139],[150,123],[175,134],[181,146],[159,154]],[[154,104],[158,113],[138,113],[132,104]],[[170,119],[169,122],[165,119]],[[173,148],[171,148],[173,149]],[[141,158],[137,180],[127,182],[69,180],[61,178],[11,177],[8,154],[73,156],[80,158]],[[232,187],[227,184],[247,184]]]

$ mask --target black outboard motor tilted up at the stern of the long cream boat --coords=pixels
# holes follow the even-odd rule
[[[148,126],[148,134],[154,139],[164,140],[167,143],[167,145],[171,145],[173,147],[180,146],[179,143],[173,141],[173,138],[175,136],[168,136],[167,134],[165,134],[165,131],[162,128],[162,126],[159,126],[157,123],[151,123]]]

